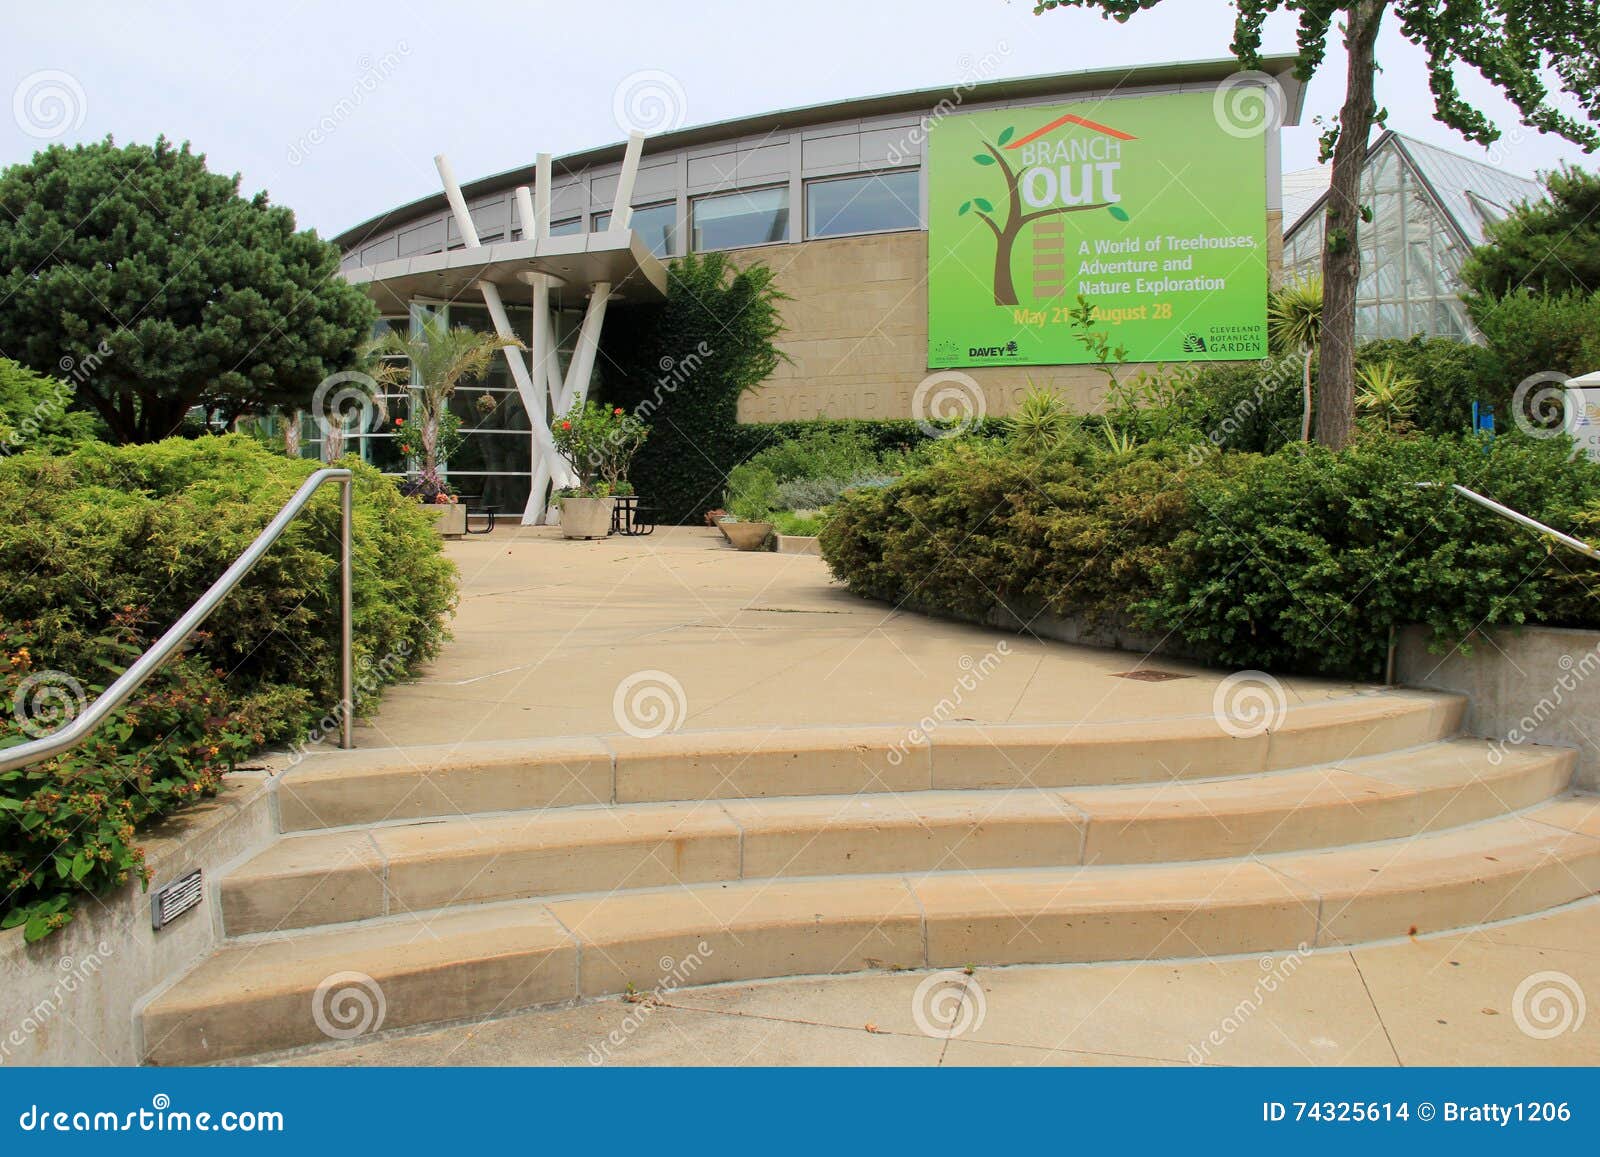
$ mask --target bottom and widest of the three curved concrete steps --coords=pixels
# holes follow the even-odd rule
[[[1600,891],[1600,800],[1328,851],[677,885],[237,941],[141,1013],[197,1064],[622,992],[872,968],[1312,949]],[[381,1016],[378,1015],[381,1011]]]

